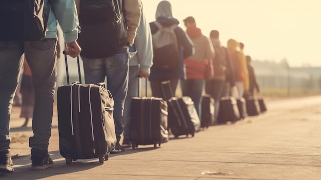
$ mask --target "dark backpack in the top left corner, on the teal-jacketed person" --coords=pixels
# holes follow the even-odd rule
[[[45,0],[50,1],[50,0]],[[0,41],[40,41],[46,36],[51,3],[44,0],[1,0]]]

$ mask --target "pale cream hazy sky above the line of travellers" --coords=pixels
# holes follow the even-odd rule
[[[142,0],[148,22],[160,0]],[[245,44],[252,59],[287,58],[290,66],[321,66],[321,0],[169,0],[181,23],[193,16],[204,35],[220,32]],[[184,24],[180,26],[185,30]]]

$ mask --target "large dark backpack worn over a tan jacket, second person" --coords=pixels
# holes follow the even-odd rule
[[[122,0],[81,0],[78,44],[87,58],[112,56],[127,44]]]

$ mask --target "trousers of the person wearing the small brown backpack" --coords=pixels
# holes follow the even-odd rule
[[[219,111],[219,101],[222,97],[225,86],[224,79],[210,79],[205,83],[205,92],[210,94],[214,99],[214,118],[217,119]]]

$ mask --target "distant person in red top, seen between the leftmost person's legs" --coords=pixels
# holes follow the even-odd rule
[[[31,70],[27,63],[26,58],[24,58],[24,71],[21,79],[20,92],[22,95],[20,117],[25,118],[25,123],[21,127],[27,127],[29,123],[29,118],[32,118],[33,106],[34,106],[34,94],[33,94],[33,88],[32,88]]]

